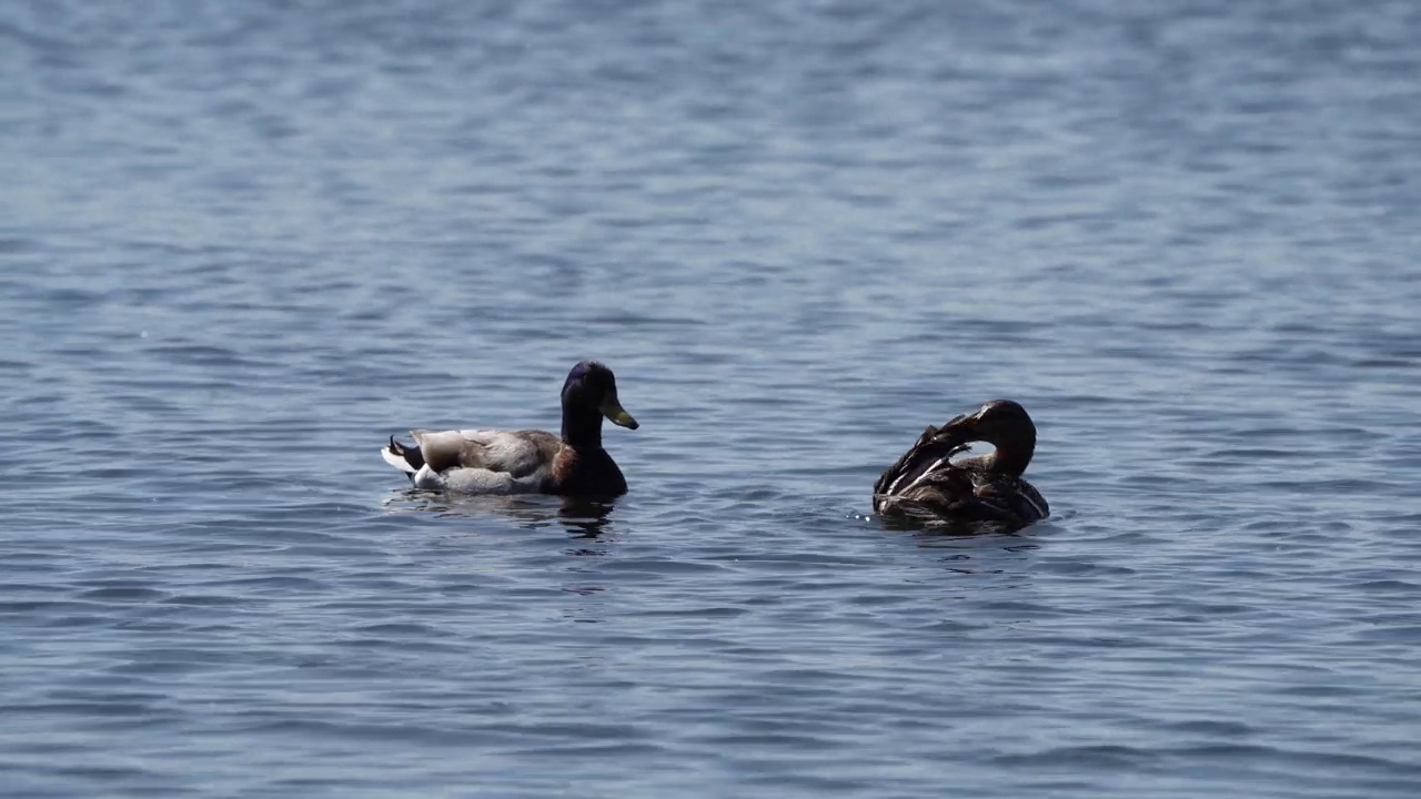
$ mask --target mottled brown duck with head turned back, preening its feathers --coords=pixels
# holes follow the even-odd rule
[[[973,441],[996,448],[952,462]],[[874,510],[884,516],[934,516],[962,522],[1029,525],[1050,508],[1022,472],[1036,451],[1036,425],[1026,408],[993,400],[918,441],[874,483]]]

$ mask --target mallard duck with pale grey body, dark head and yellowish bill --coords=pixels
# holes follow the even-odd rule
[[[617,401],[612,370],[583,361],[563,384],[563,434],[540,429],[416,429],[415,446],[389,436],[379,451],[415,488],[462,493],[627,493],[627,479],[603,449],[603,417],[637,429]]]

